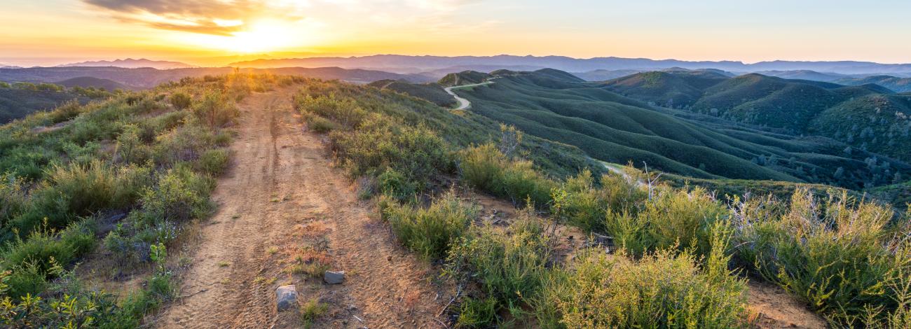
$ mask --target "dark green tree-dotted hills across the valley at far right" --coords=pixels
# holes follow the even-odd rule
[[[882,85],[844,86],[758,74],[705,87],[692,80],[687,72],[649,72],[611,80],[605,87],[785,135],[830,137],[851,145],[845,152],[861,149],[911,161],[911,96],[894,94]]]

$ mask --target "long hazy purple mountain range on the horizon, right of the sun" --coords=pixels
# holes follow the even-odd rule
[[[763,71],[810,70],[831,72],[841,75],[888,74],[911,76],[911,64],[880,64],[859,61],[771,61],[745,64],[737,61],[681,61],[676,59],[655,60],[648,58],[595,57],[572,58],[566,56],[430,56],[430,55],[368,55],[353,57],[307,57],[285,59],[258,59],[231,63],[239,67],[322,67],[372,68],[396,73],[433,72],[447,67],[460,67],[480,72],[489,67],[517,67],[525,69],[554,68],[568,72],[589,72],[595,70],[640,70],[650,71],[670,67],[686,69],[714,68],[737,73]]]

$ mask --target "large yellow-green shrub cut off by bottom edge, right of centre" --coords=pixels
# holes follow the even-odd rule
[[[536,303],[538,320],[542,327],[566,328],[742,327],[746,284],[727,268],[725,239],[714,235],[704,262],[676,250],[639,260],[623,251],[578,254],[547,280]]]

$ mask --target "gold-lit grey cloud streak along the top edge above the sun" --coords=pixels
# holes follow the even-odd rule
[[[235,35],[258,19],[302,22],[307,13],[336,28],[403,27],[439,32],[464,5],[480,0],[81,0],[119,21],[204,35]],[[352,18],[360,24],[352,24]],[[226,24],[230,22],[230,24]],[[486,24],[487,25],[487,24]],[[473,26],[476,28],[477,26]],[[466,28],[462,26],[459,28]]]

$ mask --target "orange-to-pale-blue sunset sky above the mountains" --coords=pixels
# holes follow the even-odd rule
[[[0,0],[0,65],[567,55],[911,63],[911,1]]]

